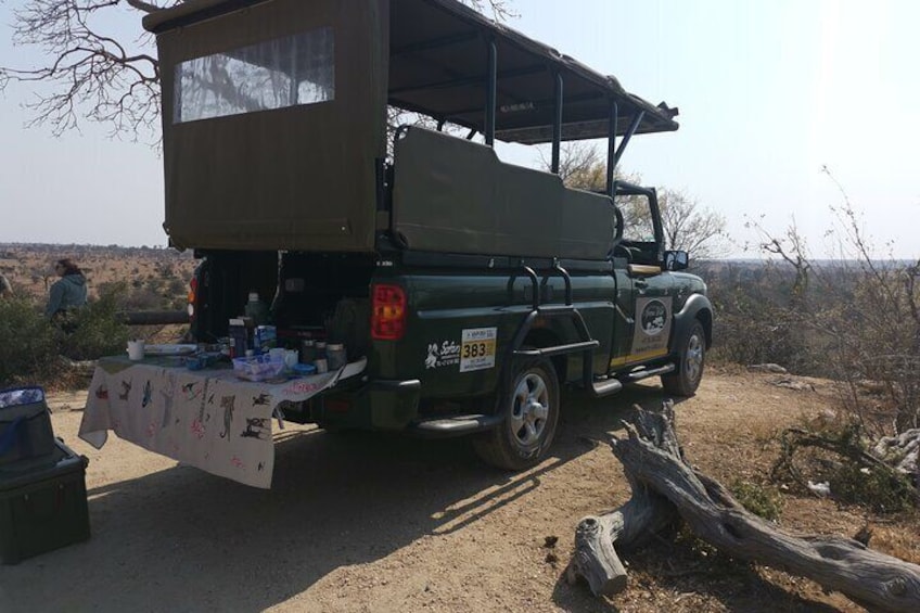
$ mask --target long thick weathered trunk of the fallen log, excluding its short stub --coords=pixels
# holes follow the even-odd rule
[[[920,611],[920,566],[848,538],[793,536],[748,512],[720,484],[693,470],[680,452],[670,405],[660,413],[639,409],[636,424],[626,430],[628,437],[611,445],[634,494],[647,487],[666,498],[701,539],[734,558],[812,578],[872,611]],[[585,551],[590,550],[578,553]]]

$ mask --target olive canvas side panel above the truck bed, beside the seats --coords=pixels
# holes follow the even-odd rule
[[[490,148],[412,128],[396,144],[393,228],[420,251],[605,259],[613,204]]]

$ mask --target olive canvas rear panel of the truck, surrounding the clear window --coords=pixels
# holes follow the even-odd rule
[[[382,0],[202,0],[151,15],[163,84],[167,233],[196,248],[372,251],[385,155]],[[186,20],[220,9],[213,18]],[[204,12],[204,13],[203,13]],[[219,13],[219,14],[218,14]],[[177,122],[176,66],[331,30],[334,99]]]

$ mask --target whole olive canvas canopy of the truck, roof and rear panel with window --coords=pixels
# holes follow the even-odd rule
[[[677,129],[675,112],[456,0],[189,0],[144,18],[178,246],[373,251],[387,104],[499,140]],[[398,161],[397,161],[398,164]],[[482,203],[487,206],[488,203]]]

